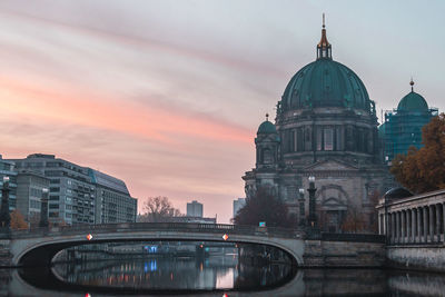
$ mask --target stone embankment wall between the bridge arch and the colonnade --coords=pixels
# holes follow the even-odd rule
[[[382,267],[385,244],[305,240],[304,267]]]

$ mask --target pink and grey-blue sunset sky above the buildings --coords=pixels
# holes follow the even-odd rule
[[[56,155],[229,222],[254,139],[294,73],[333,58],[376,109],[445,110],[444,1],[2,0],[0,154]]]

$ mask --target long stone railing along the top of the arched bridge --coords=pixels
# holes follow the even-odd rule
[[[39,236],[61,236],[93,232],[125,232],[125,231],[194,231],[194,232],[227,232],[239,235],[273,236],[284,238],[303,238],[303,231],[277,227],[254,227],[226,224],[199,222],[120,222],[102,225],[73,225],[50,228],[33,228],[11,231],[12,238],[29,238]]]

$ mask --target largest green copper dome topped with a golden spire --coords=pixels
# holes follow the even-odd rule
[[[301,68],[290,79],[280,102],[283,110],[315,107],[372,110],[368,92],[358,76],[333,60],[332,46],[324,27],[317,44],[317,60]]]

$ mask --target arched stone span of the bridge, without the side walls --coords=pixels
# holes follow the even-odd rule
[[[86,238],[88,234],[93,236],[90,241]],[[225,234],[228,235],[227,240],[222,239]],[[13,265],[49,265],[58,251],[79,245],[171,240],[265,245],[284,250],[300,266],[305,245],[301,234],[295,230],[207,224],[116,224],[90,228],[60,228],[38,235],[39,232],[33,236],[26,234],[12,240]]]

